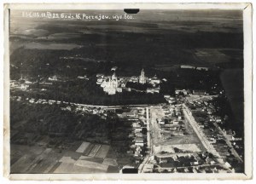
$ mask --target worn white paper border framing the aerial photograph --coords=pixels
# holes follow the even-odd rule
[[[9,9],[234,9],[243,11],[244,37],[244,173],[230,174],[10,174]],[[4,4],[3,175],[9,180],[248,180],[253,177],[253,6],[252,3],[8,3]]]

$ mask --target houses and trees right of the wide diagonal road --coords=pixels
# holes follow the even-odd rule
[[[204,99],[188,101],[186,106],[189,106],[197,126],[220,157],[228,160],[227,163],[231,165],[234,165],[234,160],[242,160],[243,147],[241,137],[237,137],[236,132],[230,129],[221,128],[222,124],[224,124],[224,119],[212,114],[215,109],[211,102]]]

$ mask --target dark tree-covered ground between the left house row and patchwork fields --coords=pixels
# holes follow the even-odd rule
[[[11,143],[33,146],[49,137],[47,147],[59,147],[66,142],[90,141],[110,144],[125,157],[129,149],[128,130],[131,124],[119,121],[111,112],[102,119],[95,114],[61,110],[62,105],[27,104],[10,101]],[[18,132],[18,133],[17,133]],[[15,135],[14,135],[15,134]]]

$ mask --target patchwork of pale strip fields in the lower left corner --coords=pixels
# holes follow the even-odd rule
[[[90,156],[84,156],[85,149]],[[11,146],[11,173],[111,173],[119,172],[115,155],[108,145],[82,142],[75,150]],[[79,152],[76,152],[79,151]],[[112,158],[106,158],[112,157]],[[108,170],[108,166],[111,166]]]

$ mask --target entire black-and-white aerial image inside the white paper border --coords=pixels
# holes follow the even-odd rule
[[[9,16],[11,174],[244,173],[241,10]]]

